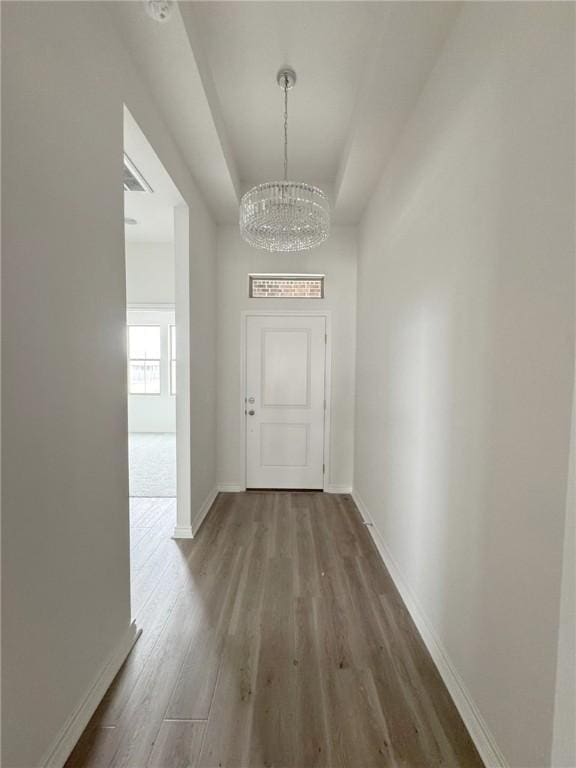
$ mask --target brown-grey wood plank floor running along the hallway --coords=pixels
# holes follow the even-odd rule
[[[480,768],[349,496],[132,507],[143,629],[67,768]]]

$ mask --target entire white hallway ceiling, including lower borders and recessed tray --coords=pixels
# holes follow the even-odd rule
[[[112,5],[112,4],[111,4]],[[166,24],[113,13],[218,221],[239,195],[289,175],[322,186],[336,221],[360,218],[459,10],[457,2],[180,2]]]

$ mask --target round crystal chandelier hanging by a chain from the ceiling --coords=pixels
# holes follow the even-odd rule
[[[296,74],[281,69],[276,79],[284,91],[284,181],[269,181],[246,192],[240,201],[240,233],[256,248],[305,251],[330,234],[330,204],[318,187],[288,181],[288,91]]]

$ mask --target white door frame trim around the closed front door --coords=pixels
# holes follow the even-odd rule
[[[246,327],[249,317],[323,317],[326,322],[326,358],[324,361],[324,473],[322,489],[326,491],[330,477],[330,420],[332,415],[332,312],[322,310],[255,309],[240,312],[240,490],[246,490]]]

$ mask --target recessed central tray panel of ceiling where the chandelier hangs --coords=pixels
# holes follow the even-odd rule
[[[194,3],[194,15],[245,185],[282,177],[283,92],[278,69],[298,77],[288,95],[291,177],[332,182],[352,121],[365,52],[385,15],[380,3]]]

